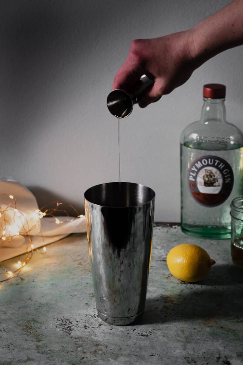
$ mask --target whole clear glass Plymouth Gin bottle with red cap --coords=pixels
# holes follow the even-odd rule
[[[242,195],[243,134],[226,121],[226,87],[203,87],[201,119],[180,138],[181,229],[206,238],[230,238],[232,199]]]

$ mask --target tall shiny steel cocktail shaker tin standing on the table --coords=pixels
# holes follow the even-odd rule
[[[144,185],[106,183],[85,192],[94,294],[102,320],[125,325],[145,309],[155,193]]]

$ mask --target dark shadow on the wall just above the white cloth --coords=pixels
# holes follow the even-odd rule
[[[62,206],[59,206],[59,210],[65,210],[67,212],[68,215],[70,216],[76,216],[79,214],[85,214],[85,210],[84,210],[84,206],[83,206],[83,201],[74,201],[74,202],[70,202],[67,201],[67,199],[65,199],[64,196],[60,196],[58,194],[56,194],[53,191],[50,191],[48,189],[44,189],[41,187],[37,187],[37,186],[29,186],[28,189],[34,194],[37,203],[38,203],[38,207],[39,209],[41,209],[42,207],[46,207],[46,208],[54,208],[56,207],[56,203],[63,203]],[[69,207],[68,204],[72,205],[72,207],[75,208],[75,210],[77,211],[77,213],[75,212],[74,209],[72,209],[72,207]],[[63,214],[62,211],[60,212],[55,212],[56,216],[60,216],[60,215],[65,215]]]

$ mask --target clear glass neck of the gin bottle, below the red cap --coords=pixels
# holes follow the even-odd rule
[[[204,124],[209,122],[226,123],[225,99],[208,99],[204,97],[203,100],[201,122]]]

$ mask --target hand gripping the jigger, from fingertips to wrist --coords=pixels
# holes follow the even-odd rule
[[[154,84],[141,95],[138,105],[145,108],[158,97],[169,94],[191,76],[194,65],[191,31],[152,39],[136,39],[130,45],[128,58],[115,75],[112,89],[133,91],[143,74]]]

